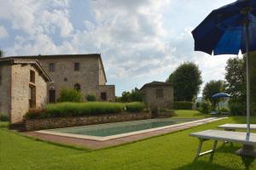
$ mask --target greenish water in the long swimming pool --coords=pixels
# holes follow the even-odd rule
[[[191,122],[195,120],[196,119],[160,118],[143,121],[115,122],[82,127],[58,128],[49,131],[53,131],[56,133],[73,133],[97,137],[107,137],[121,133],[137,132],[155,127],[166,127],[177,123]]]

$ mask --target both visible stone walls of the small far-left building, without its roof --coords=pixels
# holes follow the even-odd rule
[[[30,85],[36,88],[36,107],[46,104],[47,83],[30,64],[0,65],[0,113],[9,116],[12,124],[23,121],[29,110]],[[35,73],[35,82],[30,82],[30,71]]]

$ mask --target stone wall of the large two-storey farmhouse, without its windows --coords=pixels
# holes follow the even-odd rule
[[[107,100],[114,101],[114,86],[106,85],[107,80],[100,57],[96,55],[67,55],[61,57],[38,56],[36,59],[39,60],[44,71],[53,81],[48,83],[48,91],[55,89],[55,99],[60,97],[62,88],[74,88],[75,84],[79,84],[83,100],[88,94],[93,94],[97,100],[101,100],[101,93],[106,92]],[[49,71],[49,64],[51,63],[55,64],[55,71]],[[74,71],[74,63],[79,63],[79,71]]]

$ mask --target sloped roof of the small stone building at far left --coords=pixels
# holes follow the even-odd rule
[[[6,65],[17,65],[17,64],[32,65],[36,68],[39,75],[44,77],[46,82],[51,82],[50,77],[44,71],[43,67],[38,63],[37,59],[20,59],[20,58],[14,58],[14,57],[3,57],[3,58],[0,58],[0,64],[3,64],[3,65],[4,64],[6,64]]]

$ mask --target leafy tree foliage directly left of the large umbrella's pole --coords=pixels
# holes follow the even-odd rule
[[[233,102],[246,102],[246,62],[245,58],[233,58],[227,61],[225,67],[227,93]]]

